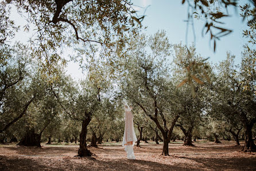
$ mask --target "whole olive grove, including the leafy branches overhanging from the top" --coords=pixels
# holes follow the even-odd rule
[[[215,40],[230,33],[214,25],[226,16],[221,9],[211,10],[217,1],[182,2],[193,4],[205,19],[209,18],[205,28],[215,49]],[[24,15],[28,16],[24,29],[36,30],[29,46],[8,43],[19,29],[10,20],[9,3],[18,13],[28,14]],[[236,1],[220,4],[237,5]],[[152,130],[156,139],[163,141],[164,155],[169,154],[168,144],[178,127],[185,145],[192,144],[192,135],[208,134],[200,132],[202,127],[216,138],[219,128],[224,127],[237,140],[243,127],[244,150],[255,150],[255,2],[253,5],[241,7],[249,26],[244,33],[249,45],[245,46],[241,65],[235,66],[234,56],[228,53],[226,60],[214,66],[193,46],[170,44],[164,32],[150,37],[138,34],[144,16],[138,16],[127,0],[2,1],[2,139],[17,137],[20,145],[40,146],[43,133],[48,139],[72,134],[74,139],[79,138],[78,155],[90,156],[88,132],[94,135],[94,142],[96,137],[99,142],[104,136],[122,137],[122,103],[126,100],[138,115],[134,123],[140,132],[139,141],[143,130]],[[79,82],[60,67],[67,62],[63,52],[71,48],[75,54],[71,59],[79,61],[87,72]],[[57,134],[60,132],[63,135]]]

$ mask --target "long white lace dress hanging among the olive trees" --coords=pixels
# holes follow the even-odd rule
[[[125,147],[127,153],[127,158],[130,160],[135,160],[133,146],[137,141],[133,126],[133,114],[131,110],[133,107],[125,105],[125,132],[123,133],[123,143],[122,146]],[[133,142],[132,145],[126,145],[127,142]]]

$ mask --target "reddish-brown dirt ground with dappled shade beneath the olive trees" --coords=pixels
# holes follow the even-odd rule
[[[235,142],[199,141],[195,147],[170,143],[170,156],[161,156],[162,145],[154,142],[134,147],[136,160],[127,160],[121,143],[89,147],[96,156],[79,158],[78,145],[0,146],[0,170],[256,170],[256,153],[239,152]]]

